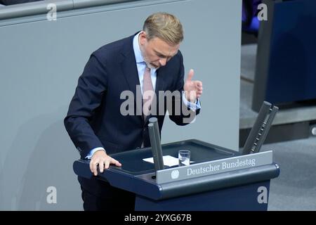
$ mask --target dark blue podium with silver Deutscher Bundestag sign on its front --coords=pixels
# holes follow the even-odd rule
[[[121,167],[110,166],[98,179],[136,194],[136,211],[268,210],[270,179],[279,176],[272,151],[241,155],[211,143],[190,139],[162,145],[163,155],[178,158],[191,151],[191,165],[155,172],[151,148],[111,155]],[[89,160],[73,165],[78,176],[91,178]]]

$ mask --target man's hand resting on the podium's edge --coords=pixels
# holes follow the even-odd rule
[[[90,160],[90,170],[94,176],[98,175],[98,165],[100,172],[103,173],[104,169],[109,168],[110,164],[114,164],[118,167],[121,167],[121,163],[114,158],[110,157],[105,153],[104,150],[97,150],[96,153],[93,153]]]

